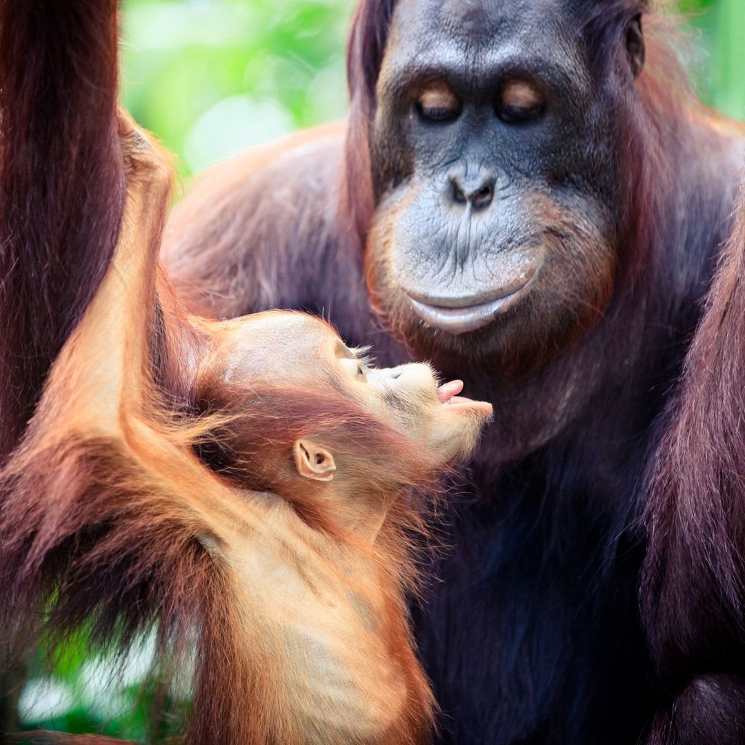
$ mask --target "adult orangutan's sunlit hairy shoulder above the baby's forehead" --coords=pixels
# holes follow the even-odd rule
[[[195,180],[171,216],[162,254],[191,309],[235,317],[302,306],[303,297],[315,308],[319,282],[332,288],[320,269],[336,270],[329,254],[343,234],[344,127],[316,127],[249,150]],[[359,285],[361,256],[348,256],[337,271],[353,273]]]

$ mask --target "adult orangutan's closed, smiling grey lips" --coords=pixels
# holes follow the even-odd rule
[[[448,334],[466,334],[513,308],[530,292],[536,274],[530,272],[511,285],[471,297],[429,297],[410,290],[406,294],[414,312],[430,326]]]

